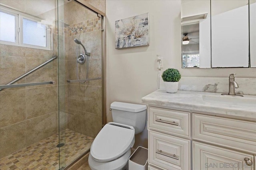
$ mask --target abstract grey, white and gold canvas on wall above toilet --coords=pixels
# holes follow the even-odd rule
[[[116,21],[116,49],[149,45],[149,14]]]

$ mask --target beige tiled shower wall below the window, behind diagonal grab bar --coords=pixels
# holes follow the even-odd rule
[[[0,44],[0,84],[4,85],[57,54]],[[22,78],[17,83],[54,81],[55,84],[9,88],[0,92],[0,158],[58,132],[57,60]]]

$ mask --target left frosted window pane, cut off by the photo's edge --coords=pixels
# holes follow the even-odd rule
[[[0,12],[0,40],[15,42],[15,16]]]

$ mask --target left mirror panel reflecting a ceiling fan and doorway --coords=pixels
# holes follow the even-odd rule
[[[182,68],[211,68],[210,0],[182,0]]]

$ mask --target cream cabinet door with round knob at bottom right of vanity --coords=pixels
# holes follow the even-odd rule
[[[246,164],[246,159],[251,161],[251,166]],[[193,141],[193,169],[254,170],[254,156],[244,152]]]

